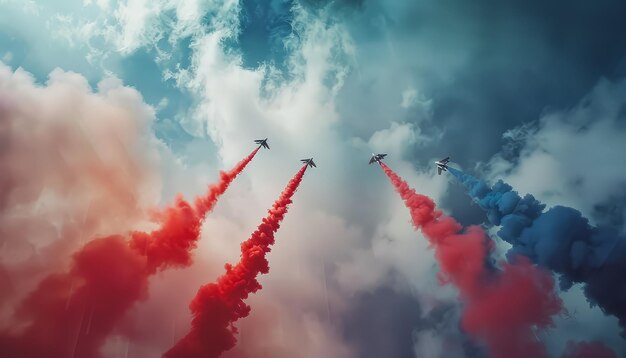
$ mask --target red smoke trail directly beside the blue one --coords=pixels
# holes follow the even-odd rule
[[[492,245],[480,227],[462,232],[430,198],[417,194],[384,163],[381,167],[409,208],[413,225],[435,249],[441,282],[459,290],[464,330],[486,343],[490,357],[547,357],[533,327],[551,326],[552,316],[562,311],[552,276],[527,260],[488,270],[485,259]]]

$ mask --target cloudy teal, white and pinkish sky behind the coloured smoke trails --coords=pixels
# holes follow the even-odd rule
[[[224,357],[486,357],[370,153],[509,246],[433,161],[626,229],[626,4],[427,0],[0,0],[0,330],[94,237],[148,230],[268,137],[203,223],[193,264],[149,279],[102,357],[160,356],[189,301],[314,157]],[[626,355],[580,285],[537,332]],[[18,327],[18,328],[15,328]]]

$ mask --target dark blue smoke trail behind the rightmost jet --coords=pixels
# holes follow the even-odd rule
[[[587,300],[619,319],[626,338],[626,242],[613,228],[591,226],[580,211],[546,205],[532,195],[523,198],[499,180],[491,188],[482,180],[448,169],[500,226],[498,236],[513,245],[509,261],[523,255],[560,274],[560,287],[583,283]]]

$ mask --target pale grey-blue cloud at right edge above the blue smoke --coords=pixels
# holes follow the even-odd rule
[[[594,206],[626,195],[626,81],[600,81],[567,111],[542,117],[538,128],[507,132],[522,143],[519,160],[496,156],[489,177],[552,205],[572,206],[593,220]]]

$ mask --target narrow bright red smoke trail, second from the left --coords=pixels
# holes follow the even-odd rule
[[[274,234],[287,213],[291,197],[298,189],[306,168],[304,165],[289,181],[261,225],[241,244],[239,263],[235,266],[226,264],[226,273],[216,283],[200,287],[189,304],[193,315],[189,333],[163,357],[219,357],[235,346],[237,328],[234,324],[250,314],[250,306],[244,300],[261,289],[257,276],[269,272],[265,255],[274,244]]]

